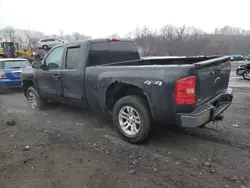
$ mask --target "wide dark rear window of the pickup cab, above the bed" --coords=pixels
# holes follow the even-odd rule
[[[139,58],[137,48],[131,41],[96,42],[91,44],[88,65],[104,65]]]

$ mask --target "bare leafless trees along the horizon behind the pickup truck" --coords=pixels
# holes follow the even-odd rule
[[[31,48],[35,48],[43,37],[57,37],[67,41],[91,38],[78,32],[64,34],[63,30],[48,36],[40,31],[12,27],[0,29],[0,41],[18,42]],[[108,37],[120,36],[112,34]],[[250,31],[231,26],[216,28],[213,33],[186,25],[166,25],[160,29],[143,27],[121,38],[134,39],[142,56],[250,54]]]

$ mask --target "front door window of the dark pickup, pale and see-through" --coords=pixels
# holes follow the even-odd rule
[[[63,47],[55,48],[50,54],[46,57],[46,65],[48,69],[59,69],[62,66],[62,57],[63,57]]]

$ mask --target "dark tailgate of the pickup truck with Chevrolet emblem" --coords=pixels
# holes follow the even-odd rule
[[[203,104],[228,87],[230,56],[195,63],[197,69],[197,105]]]

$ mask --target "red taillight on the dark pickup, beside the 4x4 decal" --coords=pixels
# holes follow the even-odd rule
[[[175,104],[196,103],[196,76],[181,78],[175,82]]]

